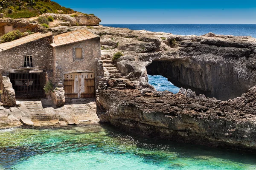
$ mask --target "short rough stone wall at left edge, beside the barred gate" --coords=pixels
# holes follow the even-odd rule
[[[2,94],[1,94],[1,102],[3,105],[6,106],[15,106],[16,105],[16,98],[15,98],[15,91],[12,88],[12,83],[9,77],[2,77],[1,82],[2,87]]]

